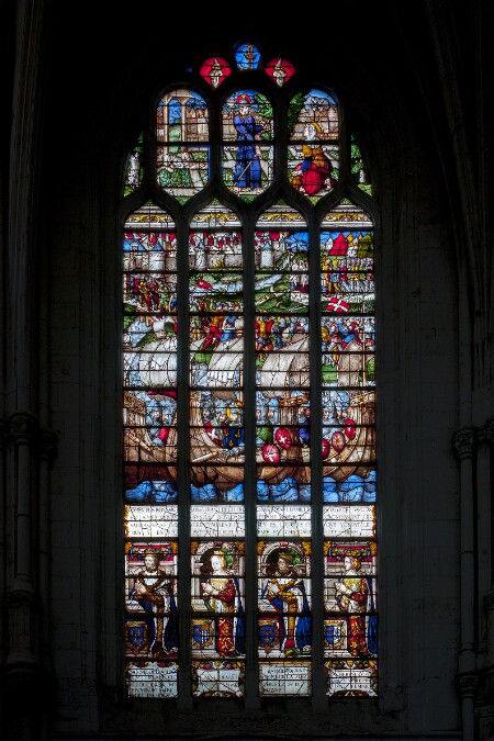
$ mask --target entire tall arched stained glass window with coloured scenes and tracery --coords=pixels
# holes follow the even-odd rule
[[[372,182],[297,72],[204,55],[126,154],[132,697],[378,695]]]

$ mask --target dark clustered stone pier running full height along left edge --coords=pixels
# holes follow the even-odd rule
[[[11,138],[8,193],[4,210],[5,321],[5,496],[2,617],[7,621],[4,654],[0,666],[3,739],[24,741],[48,738],[53,698],[49,672],[43,664],[42,644],[49,654],[44,619],[49,600],[46,579],[48,483],[41,483],[41,451],[46,435],[40,409],[48,398],[40,394],[40,346],[48,327],[42,321],[42,268],[47,247],[40,218],[41,150],[43,139],[43,70],[47,29],[45,1],[19,0],[10,32],[12,58]],[[7,191],[7,189],[5,189]],[[46,317],[45,317],[46,318]],[[47,415],[47,412],[46,412]],[[43,492],[43,494],[42,494]],[[40,546],[45,551],[42,566]],[[45,640],[43,639],[45,636]]]

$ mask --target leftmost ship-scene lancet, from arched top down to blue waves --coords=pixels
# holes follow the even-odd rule
[[[177,498],[177,242],[165,211],[145,204],[126,221],[124,462],[126,502]]]

